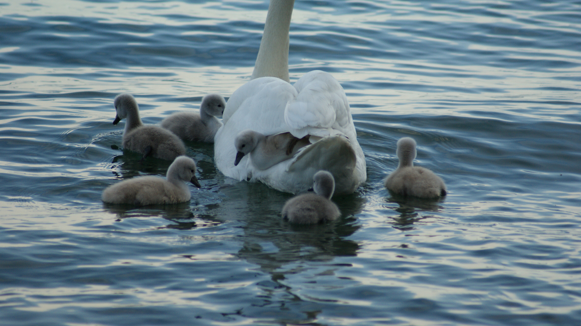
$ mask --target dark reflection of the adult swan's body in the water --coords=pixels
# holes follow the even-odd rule
[[[265,194],[260,191],[247,193],[248,198],[245,200],[260,204],[246,207],[251,212],[245,214],[247,219],[243,226],[243,243],[237,256],[270,273],[272,281],[284,278],[287,272],[281,271],[281,268],[286,264],[296,261],[332,261],[336,256],[357,255],[360,246],[346,237],[360,227],[353,215],[361,212],[365,198],[357,194],[333,198],[342,212],[338,220],[296,225],[283,221],[281,217],[281,208],[292,195],[274,191],[262,184],[254,184],[254,187],[250,185],[249,188],[272,192],[269,194],[271,200],[265,201]]]

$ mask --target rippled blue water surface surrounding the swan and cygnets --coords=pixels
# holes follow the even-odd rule
[[[145,123],[249,80],[265,1],[0,3],[1,325],[581,324],[581,2],[296,0],[290,75],[343,85],[367,183],[339,221],[224,177],[187,143],[189,203],[103,205],[165,175],[122,152]],[[397,139],[446,198],[394,198]]]

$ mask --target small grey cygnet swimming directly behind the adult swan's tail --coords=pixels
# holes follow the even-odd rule
[[[328,171],[318,171],[313,177],[315,194],[293,197],[282,207],[282,218],[290,223],[315,224],[333,221],[341,216],[339,207],[331,201],[335,179]]]

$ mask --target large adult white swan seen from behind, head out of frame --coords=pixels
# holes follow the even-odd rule
[[[214,138],[218,169],[237,180],[252,178],[284,192],[306,191],[320,170],[333,174],[336,193],[350,194],[365,182],[365,157],[345,91],[331,74],[310,71],[289,84],[289,27],[294,0],[271,0],[252,80],[228,99],[223,123]],[[234,165],[234,139],[242,130],[264,135],[290,132],[311,135],[314,144],[266,170],[243,157]]]

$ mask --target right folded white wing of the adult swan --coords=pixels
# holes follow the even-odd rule
[[[285,108],[285,123],[295,137],[339,130],[354,137],[355,128],[343,87],[329,73],[313,70],[296,81],[298,95]]]

